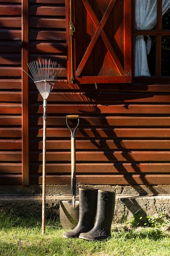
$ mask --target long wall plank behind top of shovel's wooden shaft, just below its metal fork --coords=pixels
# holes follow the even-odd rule
[[[1,146],[1,140],[0,140]],[[31,149],[42,149],[42,140],[31,139]],[[71,148],[71,142],[68,140],[46,140],[47,150],[68,150]],[[170,140],[163,139],[86,139],[76,141],[76,150],[106,150],[106,149],[128,149],[138,150],[166,150],[170,149]],[[84,153],[86,154],[86,153]]]

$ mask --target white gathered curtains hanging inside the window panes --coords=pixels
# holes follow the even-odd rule
[[[162,15],[170,8],[170,0],[162,0]],[[135,1],[135,29],[152,29],[157,23],[157,0]],[[150,76],[147,54],[150,52],[151,39],[147,43],[144,36],[135,38],[135,76]]]

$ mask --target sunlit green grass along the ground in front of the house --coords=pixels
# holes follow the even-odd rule
[[[41,234],[40,214],[1,213],[0,256],[169,256],[170,234],[161,228],[112,229],[110,240],[91,242],[63,238],[56,218],[46,220]]]

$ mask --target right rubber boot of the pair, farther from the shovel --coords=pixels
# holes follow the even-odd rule
[[[115,192],[98,191],[97,215],[95,226],[79,238],[86,240],[104,240],[111,236],[110,228],[115,210]]]

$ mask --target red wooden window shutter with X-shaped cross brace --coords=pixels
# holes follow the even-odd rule
[[[68,83],[131,82],[131,1],[68,0]]]

